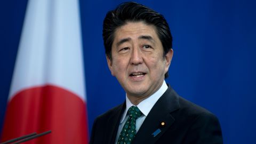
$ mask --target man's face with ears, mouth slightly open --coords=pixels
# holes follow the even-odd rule
[[[138,104],[162,86],[173,51],[171,49],[165,57],[163,53],[154,26],[127,22],[116,29],[112,60],[107,58],[108,66],[133,104]]]

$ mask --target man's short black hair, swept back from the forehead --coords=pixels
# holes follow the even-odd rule
[[[124,2],[119,4],[115,10],[109,11],[103,21],[103,41],[105,53],[112,60],[111,47],[114,41],[115,30],[124,26],[127,22],[145,22],[156,28],[158,38],[162,42],[163,57],[172,49],[172,35],[164,16],[145,5],[135,2]],[[165,78],[168,77],[168,71]]]

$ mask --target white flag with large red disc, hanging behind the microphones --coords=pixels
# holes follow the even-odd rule
[[[2,141],[87,143],[83,49],[78,0],[28,2],[7,103]]]

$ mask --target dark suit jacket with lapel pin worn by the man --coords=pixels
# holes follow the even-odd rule
[[[91,144],[115,143],[125,102],[94,121]],[[161,126],[161,122],[165,122]],[[160,129],[155,137],[153,133]],[[155,103],[132,143],[223,143],[219,121],[206,109],[181,98],[172,88]]]

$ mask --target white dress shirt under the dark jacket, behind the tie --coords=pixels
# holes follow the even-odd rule
[[[137,105],[137,107],[140,109],[142,115],[136,120],[136,125],[135,125],[136,126],[136,132],[139,131],[140,126],[144,122],[144,120],[147,117],[149,111],[153,108],[156,101],[164,94],[164,92],[167,90],[167,88],[168,88],[168,86],[164,81],[159,90],[157,90],[154,94],[150,95],[150,97],[141,101]],[[131,106],[134,106],[134,105],[127,98],[127,95],[126,95],[126,109],[124,110],[123,116],[121,118],[121,121],[120,121],[120,124],[119,124],[119,127],[118,127],[118,131],[117,131],[117,135],[116,135],[116,141],[115,141],[116,144],[117,144],[119,135],[120,135],[120,133],[123,129],[123,126],[124,126],[125,122],[127,121],[128,117],[129,117],[127,115],[127,111]]]

